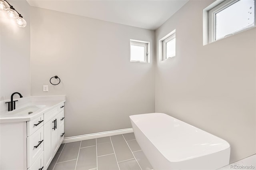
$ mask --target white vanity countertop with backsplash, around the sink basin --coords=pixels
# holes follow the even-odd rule
[[[16,100],[16,99],[15,99]],[[16,102],[16,110],[22,109],[23,107],[32,106],[32,105],[45,105],[41,109],[38,109],[30,115],[15,115],[12,112],[8,111],[6,101],[0,101],[1,111],[0,111],[0,123],[10,123],[10,122],[23,122],[30,121],[40,115],[44,114],[47,111],[50,111],[54,107],[57,107],[61,103],[66,101],[66,95],[62,96],[33,96],[33,97],[24,97],[18,98]]]

